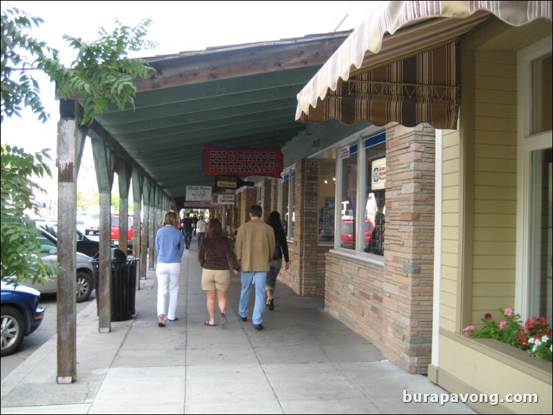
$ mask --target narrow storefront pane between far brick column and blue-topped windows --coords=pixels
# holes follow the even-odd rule
[[[319,164],[319,242],[334,242],[336,161]]]

